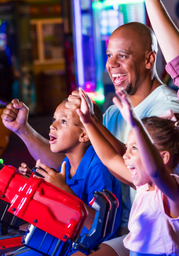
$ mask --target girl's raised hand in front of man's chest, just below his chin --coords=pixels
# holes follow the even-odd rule
[[[133,107],[130,104],[127,93],[125,92],[123,87],[116,90],[115,93],[117,94],[117,96],[119,97],[121,102],[119,101],[119,99],[117,97],[114,97],[113,98],[114,104],[120,110],[121,115],[123,116],[124,120],[128,124],[130,124],[130,126],[133,128],[134,126],[136,126],[136,122],[137,122],[138,118],[136,117],[136,115],[133,111]]]

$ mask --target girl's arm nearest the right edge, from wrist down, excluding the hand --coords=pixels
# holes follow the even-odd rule
[[[133,127],[133,132],[136,136],[136,143],[139,148],[144,170],[159,190],[167,196],[170,216],[172,218],[178,218],[179,184],[167,171],[158,149],[151,142],[140,122],[137,126]]]

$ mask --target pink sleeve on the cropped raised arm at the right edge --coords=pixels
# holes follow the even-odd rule
[[[179,55],[170,61],[166,65],[165,69],[167,70],[167,73],[169,73],[169,75],[172,77],[174,84],[179,87]],[[179,90],[177,95],[179,99]]]

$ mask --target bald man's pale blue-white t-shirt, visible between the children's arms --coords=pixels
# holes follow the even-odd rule
[[[159,116],[159,114],[170,109],[173,113],[179,113],[179,100],[177,93],[166,84],[156,88],[150,95],[136,106],[135,112],[142,119],[144,117]],[[113,105],[104,113],[104,126],[121,142],[126,143],[131,130],[130,125],[124,121],[118,108]],[[123,200],[123,217],[121,227],[127,227],[130,209],[136,195],[136,190],[121,183]]]

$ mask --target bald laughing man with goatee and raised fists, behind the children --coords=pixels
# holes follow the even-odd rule
[[[107,70],[113,81],[115,89],[124,87],[129,93],[130,101],[140,118],[145,116],[158,116],[163,111],[172,109],[179,113],[179,101],[176,92],[160,81],[156,72],[157,41],[153,31],[141,23],[128,23],[116,29],[110,37],[107,47]],[[70,122],[76,124],[73,116],[76,108],[80,108],[81,99],[78,91],[69,96],[66,102],[66,114]],[[14,103],[16,105],[14,105]],[[93,114],[93,111],[92,111]],[[3,112],[2,119],[4,125],[14,131],[26,143],[29,152],[43,163],[60,170],[64,155],[50,151],[49,140],[44,139],[27,123],[28,109],[22,102],[16,99],[12,101]],[[94,120],[98,128],[105,137],[112,143],[119,154],[124,154],[124,144],[130,127],[124,121],[115,105],[107,109],[104,114],[104,126],[97,119]],[[109,131],[113,134],[109,133]],[[118,140],[117,140],[117,139]],[[127,185],[121,183],[123,192],[123,219],[121,223],[121,235],[127,233],[127,223],[130,214],[131,203],[135,196],[134,191],[130,191]],[[114,241],[113,241],[114,242]],[[116,250],[110,242],[102,244],[98,255],[116,254]],[[116,243],[115,243],[116,244]],[[118,242],[118,247],[122,248],[122,243]],[[112,250],[112,251],[111,251]],[[127,255],[124,247],[121,249],[123,255]],[[82,255],[81,253],[76,253]]]

